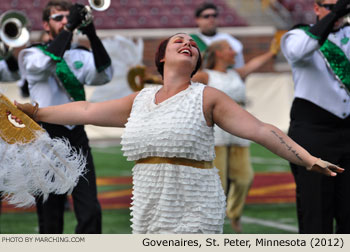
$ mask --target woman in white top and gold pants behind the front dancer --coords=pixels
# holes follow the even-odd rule
[[[232,69],[229,67],[235,63],[236,52],[226,40],[216,41],[206,49],[204,69],[197,72],[192,80],[219,89],[244,108],[246,91],[243,79],[276,56],[278,43],[273,40],[268,52],[254,57],[241,68]],[[232,228],[240,233],[245,199],[254,178],[250,141],[234,136],[217,125],[214,125],[214,137],[214,165],[219,170],[227,195],[226,214]]]

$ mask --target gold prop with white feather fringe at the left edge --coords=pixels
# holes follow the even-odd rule
[[[72,192],[85,165],[79,150],[65,139],[50,138],[0,93],[0,196],[9,204],[28,207],[35,197],[45,201],[50,193]]]

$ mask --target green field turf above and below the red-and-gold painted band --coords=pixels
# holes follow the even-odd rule
[[[133,162],[126,161],[119,146],[92,148],[96,174],[98,177],[131,176]],[[255,172],[286,172],[288,163],[257,144],[251,145],[253,168]],[[255,159],[254,159],[255,158]],[[257,158],[257,159],[256,159]],[[257,161],[258,160],[258,161]],[[263,160],[263,164],[260,162]],[[276,164],[277,163],[277,164]],[[130,188],[128,185],[101,186],[99,192],[114,190],[116,188]],[[256,204],[246,205],[244,216],[262,220],[271,220],[278,223],[296,226],[295,204]],[[129,234],[129,209],[103,210],[103,233]],[[64,233],[74,233],[76,220],[73,212],[65,213]],[[37,217],[35,213],[2,213],[0,216],[0,232],[3,234],[36,234]],[[274,227],[262,226],[256,223],[243,222],[244,233],[247,234],[277,234],[291,233]],[[234,233],[226,219],[224,233]]]

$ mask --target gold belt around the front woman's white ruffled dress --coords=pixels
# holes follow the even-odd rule
[[[200,169],[211,169],[214,167],[212,161],[197,161],[188,158],[147,157],[136,160],[136,164],[174,164],[192,166]]]

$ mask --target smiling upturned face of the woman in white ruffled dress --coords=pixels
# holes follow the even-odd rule
[[[181,63],[184,67],[196,67],[199,57],[199,49],[191,36],[179,33],[170,38],[165,50],[163,61],[166,63]]]

